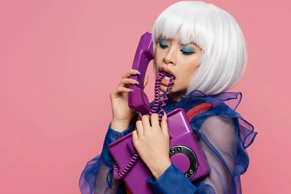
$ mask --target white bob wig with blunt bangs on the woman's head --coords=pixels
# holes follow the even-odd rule
[[[240,81],[247,62],[246,44],[229,13],[202,1],[177,2],[157,18],[152,29],[153,49],[159,38],[174,39],[178,32],[180,44],[194,43],[202,49],[186,95],[193,90],[209,96],[220,94]]]

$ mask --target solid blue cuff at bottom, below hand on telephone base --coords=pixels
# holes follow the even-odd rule
[[[157,181],[152,175],[146,181],[154,194],[194,194],[197,190],[173,163]]]

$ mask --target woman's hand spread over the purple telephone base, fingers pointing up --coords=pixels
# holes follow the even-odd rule
[[[150,120],[148,116],[144,115],[141,121],[136,122],[137,130],[132,132],[133,145],[156,180],[171,165],[170,139],[166,119],[164,113],[160,127],[159,114],[152,114]]]

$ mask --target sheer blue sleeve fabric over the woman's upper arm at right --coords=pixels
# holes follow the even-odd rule
[[[238,150],[237,130],[232,119],[208,116],[198,131],[199,144],[210,174],[197,183],[197,194],[233,194],[234,169]]]

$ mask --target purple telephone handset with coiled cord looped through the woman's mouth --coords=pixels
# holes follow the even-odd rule
[[[172,76],[169,73],[161,72],[159,76],[156,79],[155,82],[155,99],[154,99],[154,105],[153,108],[150,109],[148,98],[144,92],[144,81],[146,76],[146,69],[149,64],[149,62],[154,59],[154,51],[153,51],[153,43],[151,39],[151,32],[146,32],[141,36],[139,45],[136,49],[136,53],[134,56],[132,69],[138,70],[141,74],[130,76],[131,79],[134,79],[139,82],[139,84],[129,84],[129,88],[133,89],[133,92],[129,93],[129,108],[134,108],[137,110],[138,113],[140,113],[140,116],[143,114],[147,114],[150,116],[152,113],[156,113],[156,110],[158,109],[159,105],[159,99],[160,99],[160,84],[162,81],[162,78],[164,76],[168,76],[170,78],[169,86],[166,90],[166,93],[164,94],[164,98],[162,101],[161,111],[159,115],[159,120],[161,122],[162,120],[162,112],[163,107],[166,105],[164,103],[164,100],[167,100],[167,95],[170,94],[168,92],[170,89],[172,89],[171,85],[174,83],[172,80],[174,79],[174,76]]]

